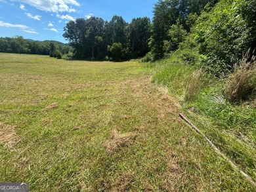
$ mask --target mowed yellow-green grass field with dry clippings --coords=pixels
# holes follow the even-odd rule
[[[0,182],[30,191],[253,191],[137,62],[0,54]]]

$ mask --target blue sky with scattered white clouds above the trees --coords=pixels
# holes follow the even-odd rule
[[[24,39],[68,43],[66,22],[96,16],[110,21],[114,15],[126,22],[153,17],[157,0],[0,0],[0,37],[21,35]]]

